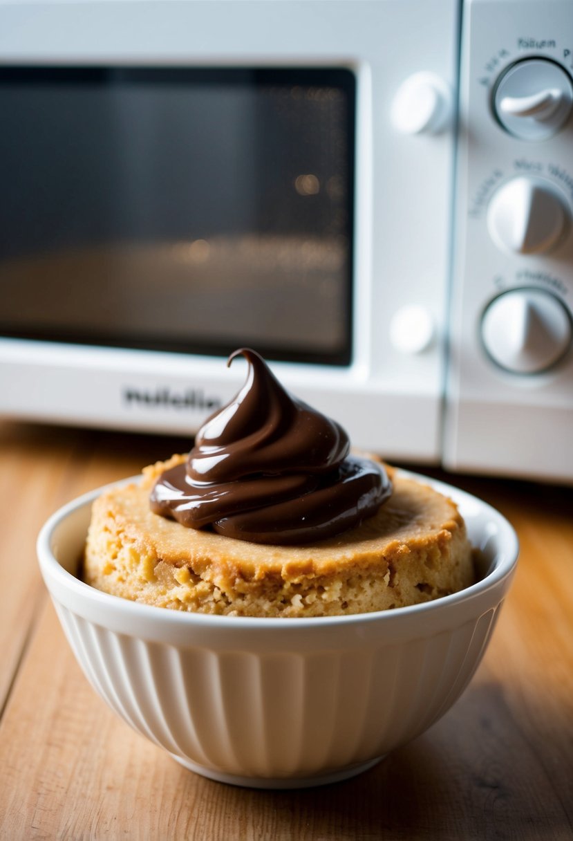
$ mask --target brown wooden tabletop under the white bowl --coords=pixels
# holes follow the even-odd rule
[[[108,710],[35,558],[57,507],[188,446],[0,423],[0,838],[573,838],[573,489],[445,477],[502,510],[522,547],[469,689],[354,780],[255,791],[183,770]]]

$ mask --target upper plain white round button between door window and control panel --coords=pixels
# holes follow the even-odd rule
[[[427,71],[408,76],[392,100],[390,119],[403,135],[437,135],[452,113],[452,97],[444,79]]]

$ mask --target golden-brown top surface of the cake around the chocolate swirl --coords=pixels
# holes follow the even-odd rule
[[[428,485],[395,475],[392,496],[374,516],[333,537],[298,546],[268,546],[225,540],[214,530],[181,528],[171,519],[155,516],[147,504],[150,488],[164,469],[184,464],[187,454],[150,465],[141,484],[114,489],[101,498],[102,511],[113,510],[114,519],[139,547],[173,566],[190,565],[194,572],[217,570],[223,578],[239,575],[263,579],[281,575],[295,580],[300,575],[328,575],[378,569],[413,551],[433,553],[447,547],[452,537],[464,532],[463,520],[454,502]]]

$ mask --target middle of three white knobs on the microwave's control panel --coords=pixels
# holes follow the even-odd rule
[[[565,204],[542,179],[518,177],[494,194],[487,209],[487,230],[502,251],[539,254],[560,241],[567,225]]]

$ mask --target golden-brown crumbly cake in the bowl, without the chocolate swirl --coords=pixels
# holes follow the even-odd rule
[[[113,595],[228,616],[333,616],[439,598],[474,580],[456,505],[389,468],[392,496],[359,526],[274,546],[185,528],[151,512],[150,488],[187,456],[145,468],[141,484],[93,505],[84,577]]]

